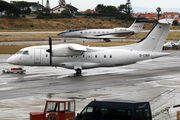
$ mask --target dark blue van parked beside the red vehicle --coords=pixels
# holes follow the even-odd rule
[[[91,101],[73,120],[152,120],[149,102]]]

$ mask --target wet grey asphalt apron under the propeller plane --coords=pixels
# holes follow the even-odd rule
[[[43,111],[46,99],[76,99],[80,112],[96,99],[150,100],[176,89],[175,104],[180,103],[180,52],[128,66],[75,71],[54,67],[24,67],[25,74],[0,73],[0,120],[28,120],[29,112]],[[0,55],[0,69],[10,55]],[[28,108],[28,109],[27,109]],[[172,109],[171,116],[176,116]]]

